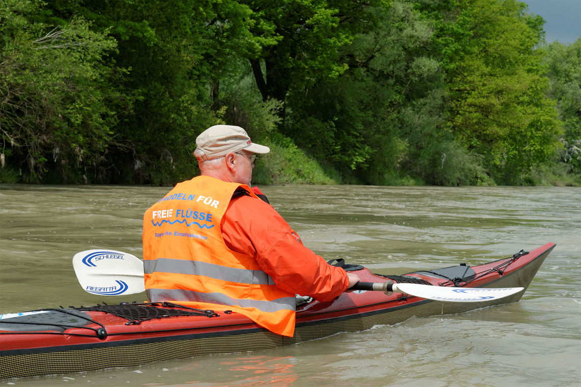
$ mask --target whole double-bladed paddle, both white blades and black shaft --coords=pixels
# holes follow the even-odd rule
[[[73,267],[83,289],[98,295],[125,295],[145,291],[144,264],[126,252],[94,249],[78,252]],[[479,302],[503,298],[524,288],[451,288],[420,284],[360,282],[350,290],[401,292],[413,296],[451,302]]]

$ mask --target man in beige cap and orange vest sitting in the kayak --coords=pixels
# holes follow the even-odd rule
[[[295,294],[331,301],[356,274],[328,265],[250,189],[257,154],[239,126],[196,139],[201,175],[179,183],[145,212],[146,293],[152,302],[244,314],[280,335],[295,329]]]

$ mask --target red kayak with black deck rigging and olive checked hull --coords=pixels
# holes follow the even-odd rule
[[[393,291],[385,292],[348,290],[331,302],[297,297],[292,338],[267,331],[241,314],[197,310],[173,303],[105,304],[3,314],[0,315],[0,379],[136,367],[217,353],[274,349],[338,332],[401,323],[411,317],[453,314],[517,302],[554,247],[554,243],[547,243],[530,252],[521,250],[483,265],[462,263],[400,276],[374,274],[363,266],[339,260],[333,264],[357,273],[361,281],[401,284],[401,288],[394,285]],[[503,298],[458,302],[402,292],[406,284],[430,285],[427,288],[435,291],[441,287],[476,291],[522,287],[522,290]]]

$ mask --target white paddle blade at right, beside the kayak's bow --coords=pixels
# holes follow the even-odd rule
[[[421,298],[451,302],[480,302],[504,298],[525,288],[452,288],[419,284],[393,284],[394,292],[402,292]]]

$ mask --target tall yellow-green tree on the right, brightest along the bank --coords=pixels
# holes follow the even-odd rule
[[[458,0],[439,24],[450,130],[505,182],[550,160],[561,130],[535,50],[540,24],[525,9],[513,0]]]

